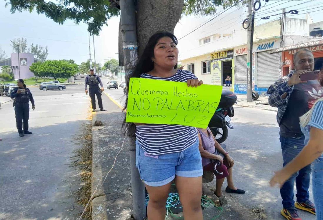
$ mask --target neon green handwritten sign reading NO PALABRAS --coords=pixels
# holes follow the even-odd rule
[[[126,122],[206,128],[219,105],[222,86],[131,78]]]

